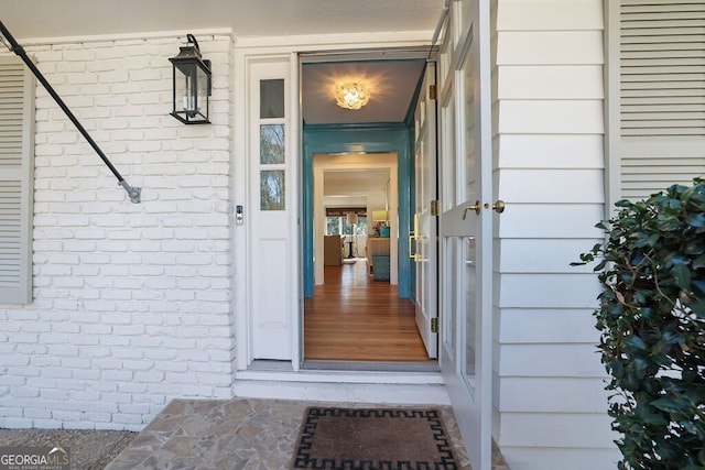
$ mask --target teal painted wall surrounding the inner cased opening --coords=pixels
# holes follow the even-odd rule
[[[399,157],[399,297],[412,297],[409,233],[413,225],[412,130],[405,124],[305,127],[302,162],[302,240],[304,296],[314,293],[313,156],[316,153],[397,152]]]

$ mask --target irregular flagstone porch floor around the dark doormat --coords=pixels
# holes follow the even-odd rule
[[[254,398],[175,400],[106,469],[289,469],[304,411],[311,405],[372,406]],[[470,469],[453,411],[441,408],[460,468]],[[499,459],[494,468],[506,469]]]

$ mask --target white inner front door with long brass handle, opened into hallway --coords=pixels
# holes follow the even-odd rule
[[[410,256],[416,270],[416,326],[430,358],[438,357],[438,237],[432,205],[437,199],[435,63],[426,65],[424,83],[414,112],[415,210],[414,231],[409,241]]]

